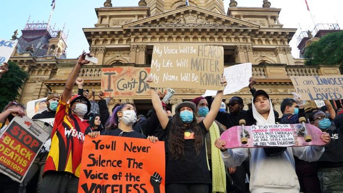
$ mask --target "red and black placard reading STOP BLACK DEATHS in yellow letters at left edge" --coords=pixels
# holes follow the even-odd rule
[[[28,117],[16,116],[0,137],[0,172],[23,182],[49,134]]]

